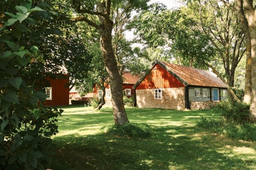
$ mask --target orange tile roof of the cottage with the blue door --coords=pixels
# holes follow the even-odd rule
[[[158,62],[164,64],[164,66],[169,68],[172,72],[174,72],[174,74],[187,82],[189,85],[226,88],[226,85],[222,82],[222,80],[211,71],[170,64],[164,61],[157,61],[157,63]]]

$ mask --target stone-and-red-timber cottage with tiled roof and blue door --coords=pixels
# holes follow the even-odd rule
[[[226,85],[213,72],[159,60],[133,89],[139,108],[210,109],[227,99]]]

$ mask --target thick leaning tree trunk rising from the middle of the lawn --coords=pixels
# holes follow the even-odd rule
[[[105,13],[105,3],[98,6],[98,11]],[[107,4],[110,5],[110,4]],[[111,102],[113,105],[113,115],[115,124],[129,123],[123,101],[123,79],[119,74],[117,62],[112,47],[113,21],[109,17],[99,17],[100,25],[100,48],[102,57],[109,75],[109,85],[111,90]]]

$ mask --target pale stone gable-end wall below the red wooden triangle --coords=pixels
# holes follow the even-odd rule
[[[155,90],[136,90],[138,108],[185,109],[185,88],[162,88],[162,99],[155,99]]]

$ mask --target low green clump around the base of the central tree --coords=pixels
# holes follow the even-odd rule
[[[147,139],[152,135],[152,129],[148,124],[127,123],[123,125],[111,125],[103,127],[104,131],[117,136]]]

